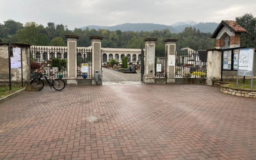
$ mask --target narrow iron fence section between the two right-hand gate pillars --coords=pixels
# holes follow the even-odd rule
[[[165,59],[165,51],[155,52],[155,77],[165,77]],[[161,66],[161,68],[159,66]]]

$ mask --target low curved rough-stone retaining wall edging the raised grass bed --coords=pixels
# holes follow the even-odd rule
[[[221,86],[220,91],[222,93],[235,95],[235,96],[256,98],[256,89],[238,89],[238,88],[234,89],[230,87]]]

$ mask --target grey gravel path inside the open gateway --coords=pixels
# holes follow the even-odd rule
[[[102,70],[103,70],[103,82],[140,81],[140,72],[138,71],[136,71],[137,74],[128,74],[128,73],[113,71],[103,67],[102,67]]]

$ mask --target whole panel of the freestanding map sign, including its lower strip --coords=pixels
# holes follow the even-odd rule
[[[254,48],[239,49],[237,76],[253,76]]]

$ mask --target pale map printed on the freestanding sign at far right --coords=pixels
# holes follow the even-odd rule
[[[253,71],[253,56],[254,56],[253,48],[240,49],[239,50],[238,70]]]

